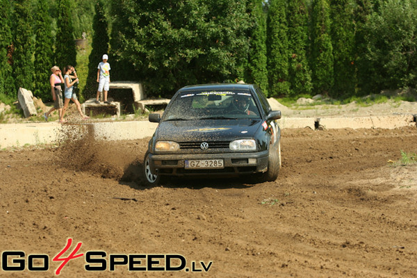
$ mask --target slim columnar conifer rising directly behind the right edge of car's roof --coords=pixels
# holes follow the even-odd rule
[[[263,0],[252,0],[250,15],[254,26],[250,30],[249,62],[247,82],[259,85],[265,95],[268,95],[268,70],[266,68],[266,14]]]

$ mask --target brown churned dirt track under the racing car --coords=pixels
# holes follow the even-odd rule
[[[417,165],[388,162],[417,151],[416,128],[284,130],[279,179],[258,184],[144,188],[146,147],[85,139],[0,152],[0,252],[49,255],[47,272],[0,276],[54,277],[52,258],[73,238],[77,254],[181,254],[190,270],[129,277],[417,277]],[[193,261],[213,263],[195,273]],[[74,259],[60,277],[129,273],[84,265]]]

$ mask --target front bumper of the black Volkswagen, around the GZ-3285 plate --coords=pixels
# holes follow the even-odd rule
[[[222,169],[186,169],[185,161],[193,159],[223,159]],[[263,152],[226,154],[149,154],[152,174],[192,176],[254,174],[268,169],[268,150]]]

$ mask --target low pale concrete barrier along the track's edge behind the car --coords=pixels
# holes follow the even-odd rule
[[[325,129],[395,129],[416,126],[414,115],[372,117],[332,117],[318,119]],[[315,129],[314,118],[288,118],[278,120],[281,129]],[[24,145],[54,144],[68,138],[89,133],[96,140],[137,140],[154,134],[157,123],[130,122],[82,122],[59,124],[58,122],[0,124],[0,149]]]

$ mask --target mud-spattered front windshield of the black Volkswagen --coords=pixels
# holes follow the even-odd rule
[[[162,120],[259,119],[259,109],[248,90],[181,92]]]

